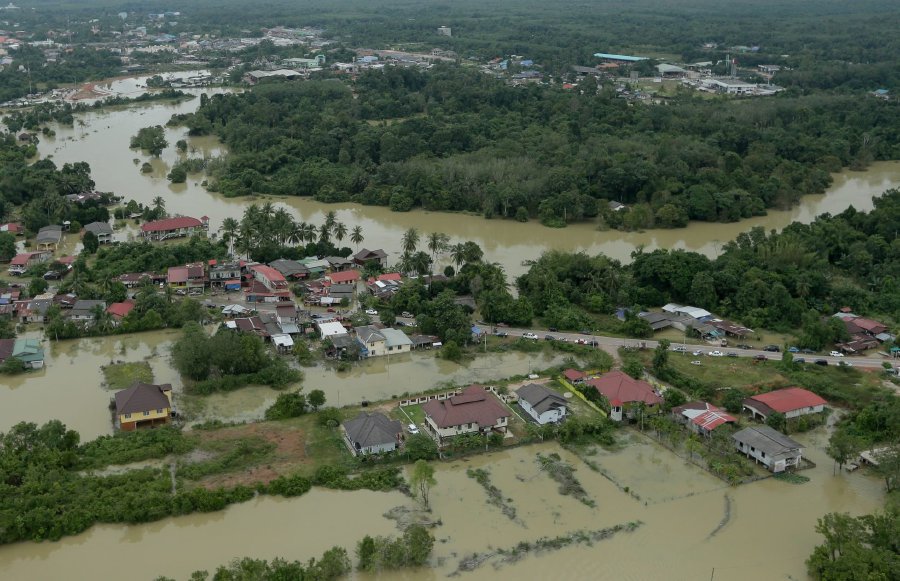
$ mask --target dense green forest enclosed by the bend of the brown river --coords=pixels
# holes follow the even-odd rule
[[[735,221],[821,192],[829,171],[900,157],[900,103],[843,95],[754,101],[685,95],[632,106],[511,87],[480,72],[392,68],[335,81],[215,95],[182,116],[231,156],[226,195],[353,200],[397,211],[474,211],[548,225],[604,214],[610,226]],[[606,201],[636,206],[605,212]]]

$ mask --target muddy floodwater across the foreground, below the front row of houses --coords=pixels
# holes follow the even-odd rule
[[[497,569],[489,561],[458,578],[643,581],[705,580],[713,574],[716,581],[806,579],[804,560],[819,542],[813,530],[816,519],[826,512],[875,510],[882,492],[880,482],[863,473],[832,476],[831,463],[818,448],[823,435],[799,439],[819,462],[805,472],[811,480],[802,485],[769,479],[730,488],[639,435],[622,451],[591,458],[606,476],[555,444],[438,464],[431,502],[443,524],[434,529],[434,568],[390,578],[446,578],[460,559],[475,552],[639,520],[643,524],[634,532],[528,555]],[[575,476],[594,507],[560,495],[558,484],[541,471],[536,454],[553,452],[576,467]],[[486,502],[484,489],[466,475],[467,468],[489,470],[491,483],[516,509],[515,520]],[[399,493],[318,489],[293,500],[264,497],[212,515],[98,526],[58,543],[0,547],[0,569],[10,580],[62,579],[79,569],[98,578],[164,574],[186,579],[193,570],[237,556],[305,560],[334,544],[352,555],[364,534],[391,534],[393,522],[382,515],[411,502]],[[142,573],[123,577],[126,564]]]

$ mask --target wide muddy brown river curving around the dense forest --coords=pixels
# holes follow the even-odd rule
[[[188,91],[199,95],[201,91]],[[40,155],[52,157],[57,164],[87,161],[93,170],[97,189],[112,191],[126,199],[150,204],[156,196],[166,201],[170,213],[210,217],[210,230],[215,232],[226,217],[240,218],[244,208],[257,200],[224,198],[207,192],[200,182],[203,176],[191,175],[187,183],[170,184],[166,174],[181,154],[175,142],[187,139],[188,156],[215,157],[224,153],[213,137],[187,138],[183,127],[166,128],[169,147],[160,158],[150,158],[140,151],[128,149],[132,135],[142,127],[165,125],[175,113],[188,113],[199,106],[194,99],[181,103],[153,103],[127,109],[80,114],[74,127],[54,127],[55,138],[41,137]],[[134,163],[138,160],[138,163]],[[140,173],[140,165],[149,161],[153,172]],[[639,246],[683,248],[715,255],[722,244],[754,226],[766,230],[781,229],[792,221],[809,222],[815,216],[841,212],[849,206],[858,210],[872,208],[872,197],[891,187],[900,186],[900,162],[878,162],[864,172],[845,171],[835,174],[827,193],[806,196],[791,210],[770,210],[767,216],[732,224],[692,223],[678,230],[618,232],[597,230],[594,223],[574,224],[564,229],[549,229],[536,221],[519,223],[511,220],[485,221],[479,216],[426,211],[391,212],[388,208],[358,204],[322,204],[306,198],[279,198],[277,205],[288,209],[296,219],[321,223],[325,212],[334,210],[338,220],[348,228],[362,227],[363,246],[384,248],[396,259],[400,238],[408,228],[420,232],[445,232],[452,241],[474,240],[485,251],[489,261],[499,262],[511,276],[524,272],[524,260],[536,259],[548,249],[603,252],[620,260],[629,260]]]

